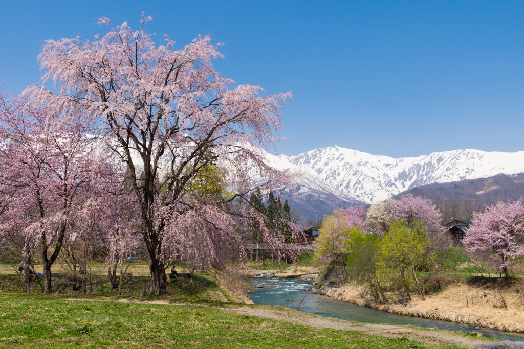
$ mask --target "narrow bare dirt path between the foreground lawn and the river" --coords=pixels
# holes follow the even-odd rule
[[[167,304],[176,306],[200,306],[211,307],[215,309],[222,309],[224,311],[233,311],[236,313],[246,314],[250,316],[257,316],[266,319],[292,322],[309,327],[329,328],[334,330],[356,331],[368,333],[372,335],[380,335],[385,337],[406,337],[412,341],[423,342],[432,346],[440,346],[443,344],[452,345],[457,344],[467,348],[473,348],[474,345],[484,343],[486,340],[473,339],[459,333],[451,331],[439,331],[430,329],[412,328],[409,326],[396,325],[380,325],[370,323],[359,323],[335,318],[321,317],[314,314],[304,313],[302,311],[276,308],[271,306],[234,306],[234,307],[216,307],[203,305],[200,303],[181,303],[169,302],[161,300],[134,300],[134,299],[118,299],[118,300],[104,300],[104,299],[64,299],[72,301],[103,301],[103,302],[126,302],[126,303],[149,303],[149,304]]]

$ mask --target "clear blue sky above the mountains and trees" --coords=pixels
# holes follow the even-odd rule
[[[40,43],[137,27],[224,42],[215,66],[294,99],[282,154],[329,145],[417,156],[524,150],[522,1],[2,1],[0,85],[39,83]]]

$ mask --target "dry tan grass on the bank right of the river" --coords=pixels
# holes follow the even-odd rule
[[[345,285],[328,292],[330,297],[391,313],[524,332],[524,287],[518,284],[497,289],[456,283],[441,292],[427,295],[425,300],[412,296],[406,307],[394,303],[379,305],[365,294],[365,288],[356,285]]]

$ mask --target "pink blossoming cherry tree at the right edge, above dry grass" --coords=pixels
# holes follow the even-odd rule
[[[524,234],[524,205],[522,200],[512,204],[494,205],[484,213],[475,212],[467,230],[464,246],[476,255],[488,253],[510,278],[511,258],[524,255],[520,239]]]

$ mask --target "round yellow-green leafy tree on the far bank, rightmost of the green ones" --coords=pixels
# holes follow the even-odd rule
[[[403,305],[411,298],[411,271],[424,262],[430,245],[424,224],[418,219],[414,219],[409,227],[405,220],[397,219],[380,241],[377,266],[396,272],[396,288]]]

